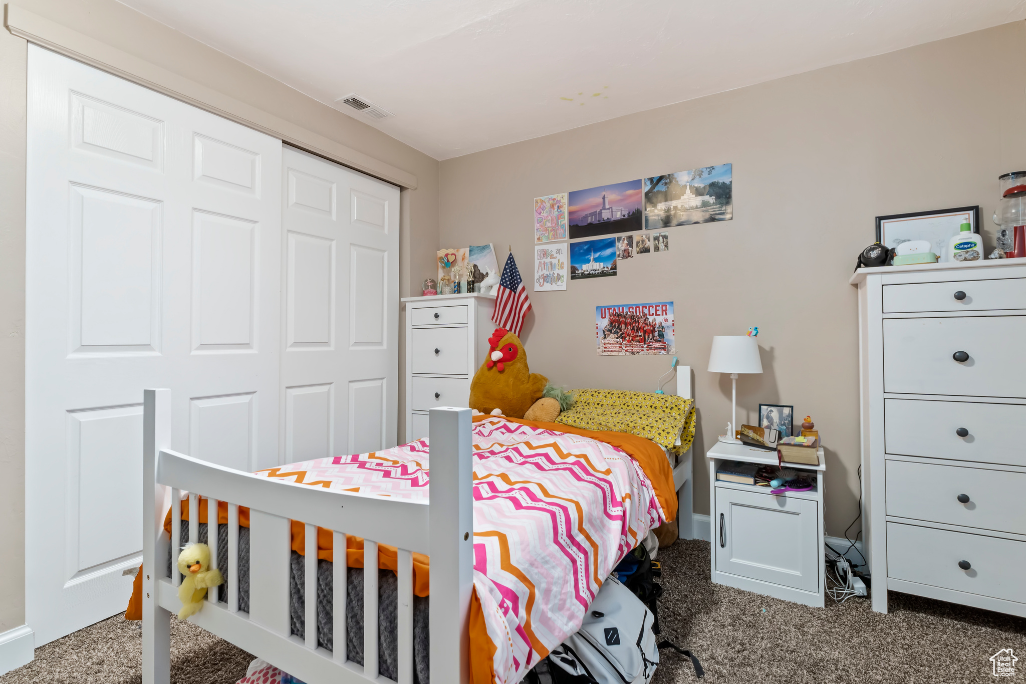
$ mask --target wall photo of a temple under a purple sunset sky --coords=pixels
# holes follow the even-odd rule
[[[641,180],[576,190],[569,194],[568,209],[571,240],[643,230]]]

